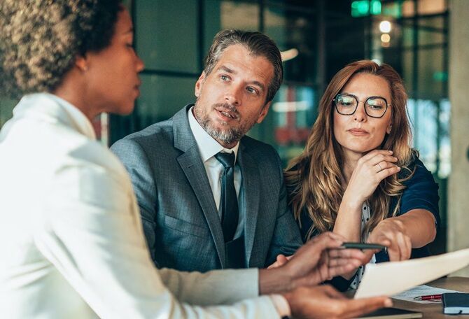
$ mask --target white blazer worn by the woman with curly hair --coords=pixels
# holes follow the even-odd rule
[[[130,178],[77,108],[39,93],[13,114],[0,133],[0,318],[279,317],[257,269],[155,269]]]

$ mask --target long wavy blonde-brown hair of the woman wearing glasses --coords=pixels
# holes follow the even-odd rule
[[[381,180],[379,186],[368,199],[371,216],[362,229],[363,234],[370,232],[384,218],[388,217],[391,197],[397,197],[398,204],[392,212],[398,213],[400,195],[405,186],[404,180],[412,177],[414,170],[409,166],[416,152],[410,148],[412,133],[406,104],[407,93],[399,74],[389,65],[379,66],[375,62],[362,60],[353,62],[335,74],[325,89],[319,103],[319,114],[309,133],[306,147],[301,155],[295,157],[286,170],[286,184],[289,191],[290,206],[295,218],[300,222],[300,215],[305,211],[313,221],[307,236],[326,232],[334,227],[340,202],[346,188],[342,167],[344,155],[337,143],[333,129],[333,99],[342,91],[350,78],[357,73],[370,73],[384,78],[391,89],[392,129],[381,143],[381,149],[392,150],[398,158],[400,179],[396,174]],[[405,176],[405,177],[402,177]]]

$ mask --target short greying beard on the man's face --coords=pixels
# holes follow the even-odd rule
[[[219,129],[215,127],[212,123],[211,118],[209,117],[210,111],[213,111],[214,108],[223,108],[224,110],[230,111],[231,113],[235,113],[235,115],[239,119],[239,113],[235,106],[232,106],[228,103],[219,103],[214,104],[211,106],[211,109],[204,113],[202,106],[197,107],[197,101],[194,108],[194,115],[199,124],[204,128],[205,132],[207,132],[211,137],[216,139],[217,141],[221,141],[226,145],[230,145],[232,143],[237,143],[243,136],[248,132],[251,127],[255,123],[248,123],[248,125],[240,125],[240,127],[229,127],[227,124],[222,122],[222,125],[225,125],[226,129]]]

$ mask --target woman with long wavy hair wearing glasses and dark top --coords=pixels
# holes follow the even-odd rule
[[[333,231],[387,246],[372,262],[428,255],[437,184],[410,147],[406,103],[400,76],[386,64],[353,62],[332,78],[307,145],[286,171],[304,241]],[[340,288],[356,288],[362,274],[363,267],[348,274]]]

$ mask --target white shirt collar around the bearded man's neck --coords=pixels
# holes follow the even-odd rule
[[[197,122],[193,114],[193,107],[189,108],[188,118],[190,130],[194,134],[195,141],[197,142],[197,147],[199,148],[200,156],[202,157],[202,162],[207,162],[211,157],[214,157],[217,153],[235,153],[235,163],[238,157],[238,148],[239,142],[236,143],[233,148],[224,148],[220,145],[213,137],[211,137],[205,129]]]

